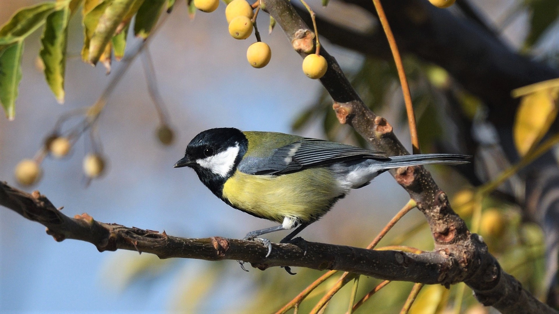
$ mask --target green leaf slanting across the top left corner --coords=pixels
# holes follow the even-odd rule
[[[55,2],[41,2],[17,11],[10,21],[0,28],[0,45],[14,44],[29,36],[45,22],[45,18],[54,11],[55,6]]]

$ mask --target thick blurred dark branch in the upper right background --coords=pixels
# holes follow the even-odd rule
[[[375,8],[370,0],[340,1],[356,4],[375,15]],[[442,66],[461,87],[479,97],[487,106],[487,118],[496,127],[506,157],[514,163],[518,160],[518,154],[513,142],[512,126],[519,102],[510,96],[510,92],[518,87],[557,78],[559,69],[530,60],[528,56],[512,50],[497,39],[493,27],[487,25],[470,3],[458,0],[457,4],[469,18],[459,18],[446,9],[435,8],[427,0],[383,1],[401,52]],[[306,21],[306,13],[299,13]],[[370,34],[364,34],[317,18],[320,35],[334,44],[377,58],[390,59],[390,50],[386,41],[381,38],[380,28]],[[450,103],[454,106],[454,112],[461,111],[459,102]],[[550,132],[558,131],[559,122],[556,121]],[[466,135],[466,141],[471,140],[469,132],[469,129],[462,132]],[[471,145],[470,148],[475,149]],[[468,153],[472,154],[474,151]],[[514,198],[514,201],[523,207],[525,217],[538,222],[544,228],[546,237],[551,237],[547,247],[551,254],[547,256],[546,277],[556,278],[559,194],[555,192],[557,185],[554,185],[553,179],[549,182],[533,179],[542,174],[541,169],[546,169],[547,173],[552,172],[551,177],[559,177],[557,162],[553,155],[548,153],[524,169],[521,174],[527,178],[525,199],[530,199],[530,202],[526,203],[527,206],[524,198],[517,198],[515,195],[510,195],[508,201]],[[468,171],[470,182],[476,184],[472,169],[464,170]],[[545,192],[540,193],[542,190]],[[547,281],[555,284],[549,287],[550,293],[556,291],[555,296],[548,298],[548,303],[559,307],[559,284],[557,280]]]

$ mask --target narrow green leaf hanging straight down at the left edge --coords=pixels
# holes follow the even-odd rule
[[[13,120],[17,87],[21,80],[21,55],[23,54],[23,41],[8,47],[0,56],[0,101],[6,117]]]

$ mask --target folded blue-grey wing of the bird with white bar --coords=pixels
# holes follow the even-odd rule
[[[305,138],[275,149],[266,158],[246,156],[239,170],[247,174],[279,175],[356,159],[386,159],[382,153],[352,145]]]

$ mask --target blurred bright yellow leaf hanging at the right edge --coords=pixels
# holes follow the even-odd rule
[[[520,101],[514,121],[514,144],[520,156],[524,156],[546,134],[557,116],[556,93],[553,89],[541,89],[527,94]]]

